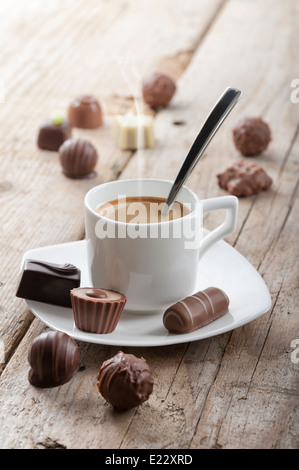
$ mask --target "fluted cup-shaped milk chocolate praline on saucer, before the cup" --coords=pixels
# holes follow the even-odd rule
[[[120,292],[94,287],[71,290],[74,322],[88,333],[112,333],[115,330],[127,297]]]

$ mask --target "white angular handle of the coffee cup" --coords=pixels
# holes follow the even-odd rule
[[[222,240],[227,235],[233,233],[237,227],[238,220],[238,198],[236,196],[223,196],[212,199],[204,199],[202,201],[202,213],[226,209],[226,216],[224,222],[215,228],[212,232],[206,235],[201,243],[199,249],[199,257],[206,253],[206,251],[216,242]]]

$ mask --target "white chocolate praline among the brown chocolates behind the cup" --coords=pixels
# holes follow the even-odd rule
[[[115,116],[112,136],[121,150],[153,147],[155,140],[153,117],[132,113]]]

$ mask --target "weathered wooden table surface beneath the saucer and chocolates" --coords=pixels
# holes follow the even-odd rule
[[[299,3],[3,0],[0,17],[1,448],[298,448],[299,93],[291,84],[299,79]],[[113,115],[134,107],[152,112],[142,107],[140,83],[154,70],[177,81],[176,95],[155,114],[154,148],[122,152],[111,138]],[[268,149],[248,161],[260,164],[273,185],[239,200],[237,230],[226,241],[265,280],[270,311],[191,343],[78,342],[80,367],[70,382],[32,387],[28,349],[48,328],[15,297],[23,254],[84,238],[83,198],[92,186],[174,178],[228,86],[240,88],[242,99],[188,186],[201,198],[225,195],[216,173],[239,158],[233,126],[243,116],[268,122]],[[104,126],[74,135],[92,141],[100,158],[95,178],[71,180],[58,154],[39,150],[36,138],[43,119],[65,114],[82,93],[99,98]],[[213,213],[206,227],[221,220]],[[120,349],[144,356],[155,380],[150,399],[123,413],[113,411],[96,386],[100,365]]]

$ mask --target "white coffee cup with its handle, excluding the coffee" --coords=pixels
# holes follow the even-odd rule
[[[166,198],[172,184],[160,179],[117,180],[95,186],[85,196],[92,284],[125,294],[127,311],[140,314],[164,311],[194,293],[199,259],[214,243],[236,229],[238,199],[235,196],[200,201],[186,186],[180,190],[177,201],[191,212],[178,219],[141,227],[96,212],[101,204],[123,196]],[[218,209],[226,210],[224,222],[202,237],[203,214]]]

